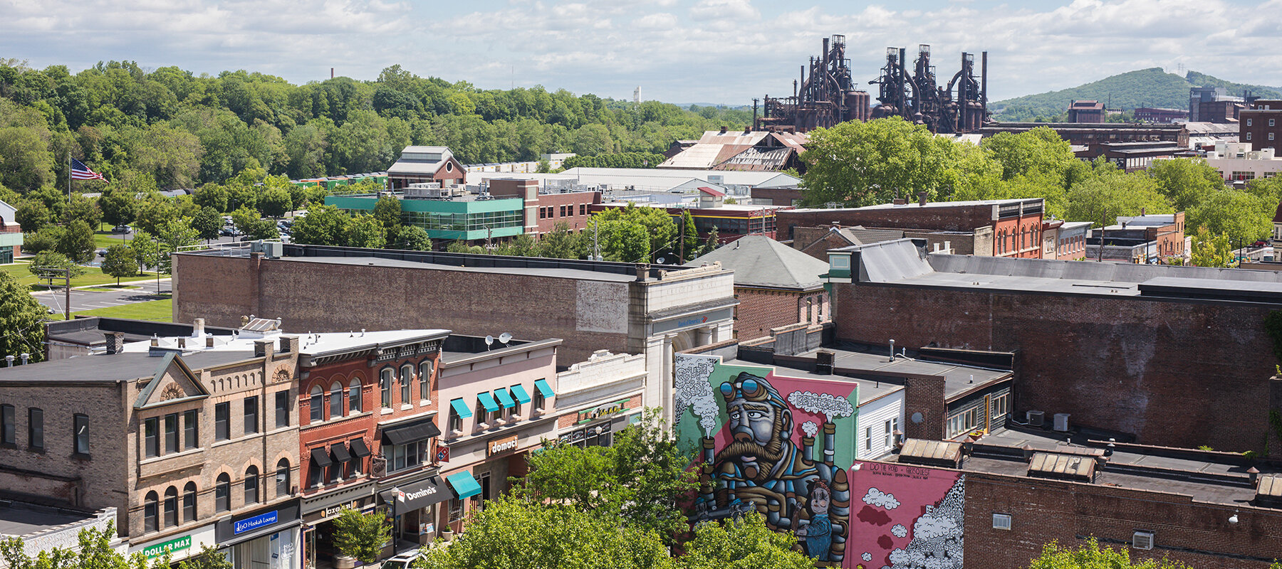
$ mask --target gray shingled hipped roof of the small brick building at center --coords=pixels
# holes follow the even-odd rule
[[[735,286],[810,290],[823,286],[828,264],[763,235],[744,236],[690,265],[720,261],[735,272]]]

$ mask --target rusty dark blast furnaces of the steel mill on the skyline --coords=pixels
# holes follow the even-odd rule
[[[931,46],[918,46],[917,60],[908,67],[908,50],[886,49],[886,65],[881,77],[878,105],[869,106],[867,91],[855,87],[846,59],[846,37],[823,40],[823,51],[810,58],[809,76],[801,67],[799,81],[792,83],[792,96],[765,96],[762,117],[758,100],[753,100],[753,126],[759,131],[806,132],[832,127],[846,120],[868,120],[882,117],[904,117],[926,124],[931,132],[965,133],[988,122],[988,53],[981,54],[979,77],[974,74],[974,54],[962,54],[962,69],[946,86],[938,86]]]

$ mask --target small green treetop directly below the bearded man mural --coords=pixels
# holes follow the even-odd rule
[[[794,551],[796,537],[765,525],[756,511],[742,519],[704,522],[686,542],[682,569],[812,569],[813,559]]]

